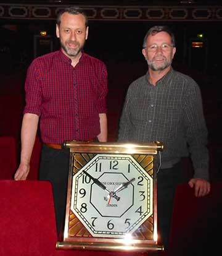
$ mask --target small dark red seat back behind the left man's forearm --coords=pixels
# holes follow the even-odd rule
[[[17,154],[14,137],[0,137],[0,179],[13,179]]]

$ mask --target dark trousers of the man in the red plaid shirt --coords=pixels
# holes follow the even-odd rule
[[[69,166],[69,150],[56,150],[43,144],[39,168],[39,179],[51,181],[57,233],[59,234],[65,221],[65,207],[67,199],[67,180]]]

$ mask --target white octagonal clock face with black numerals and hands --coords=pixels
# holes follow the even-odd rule
[[[125,237],[152,215],[152,182],[130,155],[96,155],[73,176],[70,209],[93,237]]]

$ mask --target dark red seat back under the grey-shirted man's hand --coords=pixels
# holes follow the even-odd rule
[[[176,189],[168,255],[202,256],[220,249],[222,230],[222,182],[213,183],[205,197],[181,184]]]

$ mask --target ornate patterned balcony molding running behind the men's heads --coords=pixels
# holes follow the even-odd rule
[[[1,4],[0,19],[53,20],[67,5]],[[222,6],[81,6],[89,20],[222,21]]]

